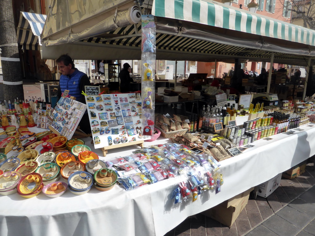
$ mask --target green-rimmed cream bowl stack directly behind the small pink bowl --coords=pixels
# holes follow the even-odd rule
[[[60,168],[56,163],[49,162],[39,166],[35,173],[40,174],[43,178],[43,184],[47,185],[59,179]]]

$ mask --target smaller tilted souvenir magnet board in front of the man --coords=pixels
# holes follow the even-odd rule
[[[53,119],[49,128],[53,132],[58,132],[67,139],[71,139],[85,110],[86,104],[61,97],[52,113]]]

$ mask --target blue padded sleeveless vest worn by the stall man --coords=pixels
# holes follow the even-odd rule
[[[84,75],[86,74],[79,71],[77,68],[75,68],[75,71],[71,75],[61,75],[59,81],[61,93],[65,90],[69,90],[70,96],[77,98],[77,100],[80,99],[83,96],[80,91],[80,81],[81,77]]]

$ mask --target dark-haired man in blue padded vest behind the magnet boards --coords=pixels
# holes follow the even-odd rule
[[[59,81],[58,100],[61,98],[61,94],[65,90],[69,90],[69,95],[76,98],[78,102],[85,104],[85,98],[82,95],[82,91],[85,92],[84,86],[90,85],[89,77],[75,68],[71,57],[68,54],[61,55],[57,60],[57,65],[62,73]],[[80,129],[85,133],[91,133],[91,127],[89,126],[89,116],[85,112],[82,120],[79,123]]]

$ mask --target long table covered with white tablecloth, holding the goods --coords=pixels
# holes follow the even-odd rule
[[[263,183],[315,154],[315,128],[292,135],[270,136],[258,140],[243,154],[221,161],[224,184],[221,192],[205,192],[194,203],[172,208],[171,191],[177,179],[167,179],[125,191],[115,186],[108,192],[92,188],[84,195],[69,191],[58,198],[44,194],[24,199],[18,194],[1,196],[0,235],[159,235],[163,236],[187,216],[207,210],[226,199]],[[90,145],[90,138],[84,138]],[[145,142],[146,146],[167,143],[167,139]],[[110,150],[106,160],[131,154],[132,146]],[[100,149],[94,150],[101,155]],[[116,152],[115,152],[116,151]],[[61,180],[61,177],[60,179]]]

